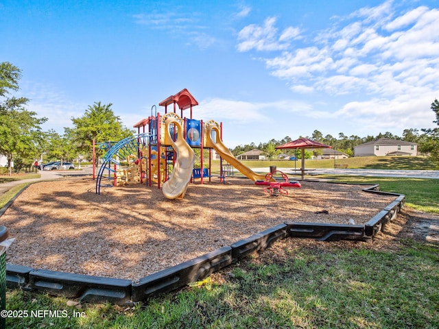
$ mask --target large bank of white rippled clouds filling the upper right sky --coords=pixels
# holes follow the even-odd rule
[[[361,8],[316,32],[316,37],[301,39],[303,43],[295,44],[298,34],[287,27],[284,31],[292,39],[283,40],[296,49],[272,47],[282,52],[265,58],[266,67],[287,80],[294,93],[326,95],[322,99],[330,106],[310,110],[308,117],[332,112],[372,131],[431,127],[429,106],[439,90],[439,10],[401,8],[393,1]],[[281,40],[275,22],[269,18],[263,26],[244,28],[239,50],[263,50],[264,42]]]

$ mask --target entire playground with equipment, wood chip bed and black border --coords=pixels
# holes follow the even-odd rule
[[[304,162],[300,182],[276,168],[253,171],[223,143],[222,123],[193,119],[198,101],[187,89],[158,105],[165,113],[153,106],[134,124],[134,136],[93,141],[93,165],[95,146],[106,151],[93,179],[32,184],[3,213],[16,238],[7,259],[12,287],[86,302],[137,302],[287,236],[372,242],[403,206],[405,195],[381,193],[377,185],[366,191],[304,180]],[[330,147],[310,140],[281,146]],[[212,170],[214,154],[219,173]]]

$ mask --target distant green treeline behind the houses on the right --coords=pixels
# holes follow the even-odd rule
[[[375,141],[379,138],[392,138],[399,141],[407,141],[412,143],[418,144],[418,151],[420,153],[428,153],[429,152],[429,134],[421,133],[417,129],[406,129],[403,131],[402,136],[396,136],[390,132],[385,132],[385,134],[378,134],[377,136],[366,136],[366,137],[360,137],[357,135],[351,135],[346,136],[342,132],[338,134],[338,138],[335,138],[331,134],[328,134],[326,136],[323,136],[322,132],[319,132],[318,130],[314,130],[312,136],[305,136],[306,138],[312,139],[313,141],[318,141],[320,143],[324,143],[327,145],[331,145],[333,149],[336,149],[337,151],[343,152],[348,154],[349,156],[353,156],[354,154],[354,147],[369,141]],[[267,143],[259,143],[259,145],[256,145],[254,143],[246,144],[246,145],[238,145],[234,149],[232,149],[232,153],[235,156],[238,156],[239,154],[243,154],[246,151],[250,151],[252,149],[259,149],[261,151],[264,151],[265,156],[268,156],[268,158],[274,158],[277,154],[285,153],[289,155],[294,155],[294,149],[283,149],[282,151],[276,150],[275,147],[278,145],[282,145],[284,143],[288,143],[292,141],[292,138],[289,136],[286,136],[285,138],[281,139],[281,141],[276,141],[275,139],[272,139],[268,141]],[[321,154],[321,149],[316,149],[313,151],[315,154]]]

